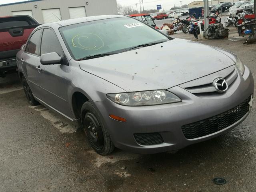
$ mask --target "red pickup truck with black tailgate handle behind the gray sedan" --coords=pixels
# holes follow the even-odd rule
[[[37,26],[28,15],[0,17],[0,77],[16,71],[16,54]]]

